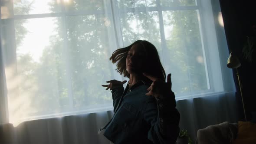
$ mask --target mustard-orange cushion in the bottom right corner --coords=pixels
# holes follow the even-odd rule
[[[238,133],[233,144],[256,144],[256,124],[238,121]]]

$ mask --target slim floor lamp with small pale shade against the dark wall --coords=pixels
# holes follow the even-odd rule
[[[241,63],[240,63],[238,57],[233,56],[232,52],[231,52],[229,58],[227,59],[227,65],[226,66],[230,69],[236,69],[236,75],[237,75],[237,78],[238,78],[240,94],[241,94],[242,103],[243,103],[243,113],[244,113],[245,121],[247,121],[246,114],[245,114],[245,108],[244,108],[244,102],[243,102],[243,93],[242,93],[242,88],[241,88],[241,83],[240,83],[240,77],[239,77],[238,70],[237,70],[237,68],[239,68],[240,65],[241,65]]]

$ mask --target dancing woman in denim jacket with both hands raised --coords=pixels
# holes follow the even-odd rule
[[[107,81],[112,90],[114,116],[99,133],[115,144],[175,144],[180,114],[171,91],[171,74],[165,71],[157,49],[138,40],[110,57],[117,71],[129,78],[126,88],[117,80]]]

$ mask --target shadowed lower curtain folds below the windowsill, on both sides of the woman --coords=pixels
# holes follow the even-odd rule
[[[235,93],[177,101],[181,113],[180,128],[187,129],[195,141],[197,130],[224,121],[236,122]],[[0,131],[6,144],[109,144],[98,130],[112,118],[113,111],[103,111],[63,118],[26,121],[13,127],[3,124]],[[4,144],[4,143],[1,143]]]

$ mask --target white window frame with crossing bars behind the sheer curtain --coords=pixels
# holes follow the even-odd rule
[[[12,2],[12,0],[10,0]],[[59,13],[41,13],[41,14],[27,14],[27,15],[14,15],[13,12],[10,16],[10,27],[13,27],[13,30],[10,31],[11,36],[13,36],[12,41],[13,49],[9,49],[8,51],[13,53],[13,56],[8,59],[12,59],[12,62],[16,63],[16,46],[15,46],[15,31],[14,31],[14,20],[20,20],[20,19],[33,19],[33,18],[47,18],[47,17],[60,17],[63,20],[62,23],[62,30],[67,32],[66,29],[66,17],[67,16],[83,16],[83,15],[90,15],[90,14],[105,14],[104,10],[82,10],[82,11],[66,11],[66,7],[63,0],[61,1],[61,12]],[[115,33],[115,43],[117,43],[115,46],[117,47],[124,47],[124,42],[122,40],[122,31],[121,31],[121,22],[120,17],[121,13],[128,13],[128,12],[143,12],[143,11],[157,11],[159,15],[159,26],[160,26],[160,36],[161,36],[161,47],[164,51],[164,49],[167,48],[166,45],[166,39],[164,34],[164,20],[163,20],[163,11],[174,11],[174,10],[197,10],[198,20],[199,20],[199,28],[200,28],[200,36],[201,36],[201,43],[202,43],[202,49],[203,49],[203,59],[205,64],[205,71],[207,75],[207,87],[208,90],[200,91],[200,92],[190,92],[189,95],[187,93],[176,95],[176,100],[180,99],[186,99],[186,98],[194,98],[194,97],[200,97],[203,95],[212,95],[214,93],[223,92],[223,79],[221,74],[221,66],[220,66],[220,56],[219,56],[219,49],[218,48],[218,42],[217,42],[217,35],[215,31],[215,26],[212,25],[214,22],[213,12],[212,12],[212,6],[211,6],[211,0],[196,0],[196,6],[179,6],[179,7],[161,7],[160,0],[156,0],[157,6],[156,7],[133,7],[133,8],[127,8],[125,10],[120,10],[118,8],[118,2],[117,0],[110,0],[110,6],[108,14],[111,15],[111,21],[113,22],[113,31]],[[12,3],[13,4],[13,3]],[[13,8],[13,7],[12,7]],[[210,9],[210,11],[209,11]],[[211,21],[207,20],[207,17],[211,16]],[[3,23],[0,24],[3,25]],[[210,26],[211,25],[211,26]],[[207,26],[207,29],[205,28]],[[209,27],[210,26],[210,27]],[[63,33],[63,39],[64,39],[64,46],[65,50],[67,50],[67,33]],[[120,37],[121,39],[118,39]],[[211,41],[209,40],[211,39]],[[207,48],[206,48],[207,47]],[[112,47],[112,51],[114,51],[114,47]],[[8,52],[8,53],[9,53]],[[212,62],[213,59],[216,59],[217,62]],[[163,65],[165,65],[163,63]],[[73,105],[73,95],[72,95],[72,85],[71,85],[71,73],[69,69],[70,64],[66,64],[66,70],[69,75],[69,88],[68,88],[68,95],[69,95],[69,106],[72,109],[72,111],[69,112],[60,112],[59,114],[52,114],[52,115],[40,115],[40,116],[34,116],[30,118],[26,118],[24,120],[30,120],[32,119],[38,119],[38,118],[49,118],[49,117],[55,117],[55,116],[64,116],[64,115],[72,115],[72,114],[84,114],[89,112],[96,112],[96,111],[106,111],[111,110],[112,105],[108,106],[105,105],[102,108],[92,108],[92,109],[84,109],[84,110],[78,110]],[[13,67],[13,69],[15,69]],[[115,65],[113,65],[113,69],[115,69]],[[213,72],[213,69],[215,72]],[[17,73],[16,73],[17,74]],[[213,79],[214,77],[220,78],[220,80]],[[114,75],[114,78],[116,79],[122,79],[125,80],[124,77],[121,77],[121,75]]]

